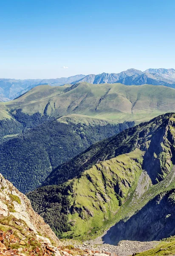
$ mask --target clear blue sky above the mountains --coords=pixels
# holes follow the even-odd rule
[[[174,0],[0,1],[0,78],[150,67],[175,68]]]

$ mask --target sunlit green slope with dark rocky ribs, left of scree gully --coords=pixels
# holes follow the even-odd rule
[[[71,180],[71,204],[73,209],[79,209],[81,213],[76,211],[69,215],[69,220],[75,226],[68,234],[73,232],[73,236],[86,236],[88,233],[92,235],[109,227],[120,204],[125,202],[141,174],[141,162],[142,152],[136,149],[129,154],[99,163],[77,179]],[[117,193],[120,196],[116,196]]]

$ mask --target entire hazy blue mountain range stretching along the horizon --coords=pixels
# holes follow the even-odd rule
[[[147,69],[142,72],[141,70],[135,70],[132,68],[121,73],[102,73],[99,75],[91,74],[88,76],[76,75],[68,78],[63,77],[57,79],[0,79],[0,101],[6,102],[11,99],[15,99],[40,84],[60,86],[64,84],[76,84],[80,81],[85,81],[91,84],[153,84],[175,88],[175,70],[159,68]]]

